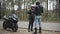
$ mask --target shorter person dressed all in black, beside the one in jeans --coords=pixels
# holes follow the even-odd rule
[[[33,31],[33,23],[34,23],[34,11],[35,7],[34,5],[31,5],[31,9],[29,10],[29,25],[28,25],[28,32]]]

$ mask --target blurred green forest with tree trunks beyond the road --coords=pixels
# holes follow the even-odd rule
[[[28,21],[28,10],[38,0],[2,0],[0,1],[0,19],[4,15],[16,13],[19,20]],[[42,21],[60,22],[60,0],[39,0],[44,7]]]

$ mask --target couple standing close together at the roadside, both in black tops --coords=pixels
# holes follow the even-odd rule
[[[31,6],[29,10],[29,26],[28,32],[33,31],[33,22],[35,21],[35,33],[37,33],[37,23],[39,24],[39,33],[41,33],[41,13],[43,13],[43,7],[40,5],[40,2],[36,2],[36,6]]]

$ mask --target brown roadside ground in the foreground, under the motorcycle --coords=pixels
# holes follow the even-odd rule
[[[0,34],[33,34],[33,32],[28,32],[27,29],[25,28],[18,28],[17,32],[13,32],[11,29],[4,30],[2,27],[2,21],[0,21]],[[60,32],[55,32],[55,31],[45,31],[43,30],[42,33],[38,34],[60,34]]]

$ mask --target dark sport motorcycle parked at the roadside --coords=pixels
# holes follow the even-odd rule
[[[18,20],[16,18],[12,18],[11,16],[6,17],[4,16],[4,22],[3,22],[3,29],[11,28],[14,32],[17,32],[18,30],[18,25],[17,25]]]

